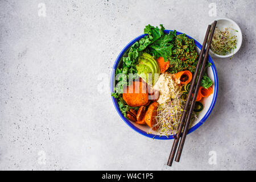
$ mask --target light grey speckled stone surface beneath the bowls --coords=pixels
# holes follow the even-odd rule
[[[46,17],[38,15],[39,3]],[[240,51],[214,59],[219,90],[207,122],[189,134],[180,163],[172,140],[121,121],[109,76],[121,49],[148,23],[202,42],[210,17],[236,21]],[[256,169],[255,2],[0,1],[0,169]],[[216,151],[217,164],[208,163]],[[46,160],[44,160],[46,159]]]

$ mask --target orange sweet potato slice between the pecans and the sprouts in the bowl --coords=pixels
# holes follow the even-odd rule
[[[156,130],[156,127],[153,127],[155,125],[155,117],[158,114],[158,102],[153,102],[150,106],[148,106],[148,109],[145,114],[145,122],[149,127],[152,128],[152,130]]]

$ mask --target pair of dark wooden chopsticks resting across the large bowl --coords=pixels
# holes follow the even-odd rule
[[[176,162],[180,161],[181,152],[183,150],[185,138],[186,138],[187,133],[188,133],[188,128],[189,128],[191,116],[192,116],[192,113],[193,113],[193,109],[195,107],[197,93],[198,93],[198,90],[199,90],[199,87],[200,87],[200,84],[201,84],[201,80],[202,80],[202,77],[203,77],[203,74],[204,74],[204,68],[205,68],[205,65],[207,63],[210,44],[212,43],[212,38],[213,38],[214,30],[216,28],[216,24],[217,24],[217,21],[214,21],[213,27],[212,27],[212,32],[210,33],[210,37],[209,37],[209,32],[210,32],[211,25],[210,24],[208,25],[207,32],[205,34],[205,38],[204,38],[204,42],[203,42],[203,46],[201,48],[201,52],[200,52],[200,55],[199,55],[199,60],[198,60],[197,65],[196,65],[196,70],[195,70],[195,73],[194,73],[193,78],[192,78],[191,86],[189,88],[188,98],[187,98],[187,101],[185,103],[184,111],[183,111],[183,113],[181,115],[181,118],[180,118],[180,125],[179,125],[179,128],[177,130],[177,133],[174,136],[174,138],[175,138],[174,143],[172,144],[172,150],[171,150],[168,162],[167,162],[168,166],[172,166],[172,162],[174,161],[175,152],[177,150],[177,144],[179,143],[179,139],[181,137],[181,141],[180,141],[179,148],[177,150],[177,154],[176,154],[176,158],[175,158]],[[208,37],[209,37],[209,40],[208,40]],[[208,41],[208,43],[207,43],[207,41]],[[207,44],[207,49],[205,51],[206,44]],[[202,60],[203,60],[203,63],[202,63]],[[192,98],[192,95],[193,95],[193,98]],[[192,99],[192,101],[191,101],[191,99]],[[184,129],[183,129],[184,121],[185,121],[185,126],[184,126]]]

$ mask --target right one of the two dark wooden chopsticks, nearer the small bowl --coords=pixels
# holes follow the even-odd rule
[[[182,137],[181,137],[181,140],[180,140],[179,148],[177,150],[177,155],[176,155],[176,158],[175,158],[176,162],[180,161],[180,155],[181,155],[181,152],[183,150],[184,142],[185,142],[185,139],[186,139],[186,136],[187,136],[187,133],[188,133],[188,128],[189,128],[191,116],[192,116],[192,113],[193,113],[193,109],[195,107],[196,97],[197,97],[197,93],[198,93],[198,90],[199,90],[199,87],[200,87],[200,84],[201,84],[201,80],[202,80],[202,77],[203,77],[203,74],[204,74],[205,65],[206,65],[207,60],[208,60],[210,44],[212,43],[212,38],[213,38],[214,30],[216,28],[216,24],[217,24],[217,21],[214,21],[213,27],[212,27],[212,32],[210,33],[210,38],[209,38],[209,41],[207,43],[207,49],[205,51],[203,64],[202,64],[202,67],[200,69],[199,77],[198,77],[198,80],[197,80],[197,83],[196,83],[195,93],[193,94],[193,98],[192,98],[192,101],[191,101],[191,106],[189,108],[188,116],[187,116],[185,126],[184,126],[184,130],[183,130],[183,134],[182,134]]]

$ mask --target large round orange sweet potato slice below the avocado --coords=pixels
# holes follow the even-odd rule
[[[147,85],[145,82],[133,81],[123,88],[123,100],[133,107],[146,105],[148,102]]]

